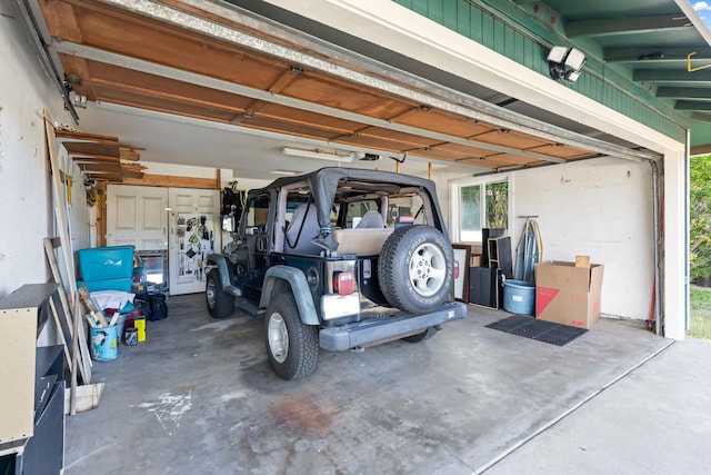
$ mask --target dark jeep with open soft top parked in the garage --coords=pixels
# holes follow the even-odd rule
[[[264,314],[274,373],[313,372],[340,352],[422,342],[463,318],[434,184],[401,174],[322,168],[247,195],[233,241],[208,258],[214,318]],[[237,301],[236,301],[237,300]]]

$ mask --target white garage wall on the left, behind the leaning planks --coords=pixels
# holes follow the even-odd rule
[[[22,23],[14,3],[0,0],[0,297],[49,279],[42,239],[54,231],[42,109],[70,123]]]

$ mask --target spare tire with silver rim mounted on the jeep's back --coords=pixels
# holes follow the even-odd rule
[[[442,305],[453,275],[452,246],[430,226],[395,229],[378,260],[378,280],[385,299],[411,314],[425,314]]]

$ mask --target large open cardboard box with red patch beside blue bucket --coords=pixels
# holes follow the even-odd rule
[[[535,266],[535,318],[590,328],[600,320],[604,267],[548,261]]]

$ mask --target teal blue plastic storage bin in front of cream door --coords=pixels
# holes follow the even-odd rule
[[[131,278],[133,246],[94,247],[80,249],[79,268],[83,280]],[[130,290],[130,286],[129,286]]]

